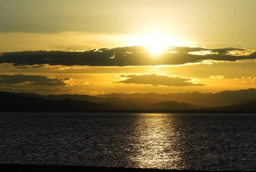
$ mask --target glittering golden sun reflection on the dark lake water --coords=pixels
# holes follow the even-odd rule
[[[134,155],[139,168],[177,169],[182,166],[181,152],[176,149],[180,136],[169,114],[140,114],[135,129]]]

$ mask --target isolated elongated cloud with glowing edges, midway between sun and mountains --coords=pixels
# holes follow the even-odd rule
[[[160,74],[132,74],[132,75],[117,75],[120,80],[113,83],[133,83],[143,84],[143,86],[207,86],[203,83],[196,83],[199,81],[196,78],[190,77],[174,77]]]

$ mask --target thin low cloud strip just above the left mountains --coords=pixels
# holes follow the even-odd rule
[[[24,92],[24,93],[35,93],[40,95],[62,95],[62,94],[78,94],[78,95],[99,95],[105,94],[103,91],[88,91],[83,89],[15,89],[12,87],[1,87],[2,92]]]

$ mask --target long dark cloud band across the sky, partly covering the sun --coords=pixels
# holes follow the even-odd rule
[[[250,59],[256,59],[255,50],[234,47],[207,49],[171,46],[157,57],[143,46],[90,49],[84,52],[26,51],[0,54],[0,63],[11,64],[17,68],[49,68],[58,65],[76,66],[77,69],[79,66],[183,65],[203,63],[207,60],[235,62]]]

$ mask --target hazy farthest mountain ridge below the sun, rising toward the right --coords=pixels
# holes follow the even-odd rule
[[[170,94],[157,94],[157,93],[134,93],[134,94],[123,94],[123,93],[112,93],[104,95],[96,95],[95,97],[109,98],[117,97],[121,99],[125,98],[148,98],[163,101],[177,101],[184,103],[192,103],[198,106],[229,106],[238,103],[242,100],[255,100],[256,89],[242,89],[237,91],[223,91],[213,93],[200,93],[200,92],[186,92],[186,93],[170,93]]]

